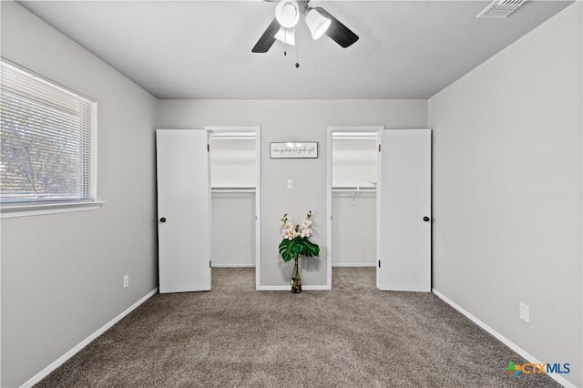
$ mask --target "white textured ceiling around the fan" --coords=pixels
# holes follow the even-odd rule
[[[276,3],[19,3],[165,99],[425,99],[570,4],[528,1],[507,18],[477,19],[490,1],[312,0],[360,39],[313,41],[301,21],[284,56],[280,42],[251,53]]]

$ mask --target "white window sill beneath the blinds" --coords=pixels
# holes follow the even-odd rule
[[[16,217],[42,216],[46,214],[68,213],[71,211],[97,210],[106,201],[94,200],[91,202],[55,202],[55,203],[27,203],[18,205],[3,205],[0,208],[0,219],[14,219]]]

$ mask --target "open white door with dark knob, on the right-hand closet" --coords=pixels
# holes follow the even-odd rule
[[[381,131],[376,284],[431,291],[431,129]]]

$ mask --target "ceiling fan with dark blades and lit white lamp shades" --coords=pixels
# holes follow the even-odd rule
[[[278,0],[265,0],[268,2]],[[328,11],[320,6],[312,8],[310,0],[281,0],[275,9],[275,17],[251,49],[253,53],[266,53],[276,40],[288,45],[295,45],[295,29],[300,16],[305,17],[312,38],[327,35],[340,46],[348,47],[358,40],[358,36],[344,26]]]

